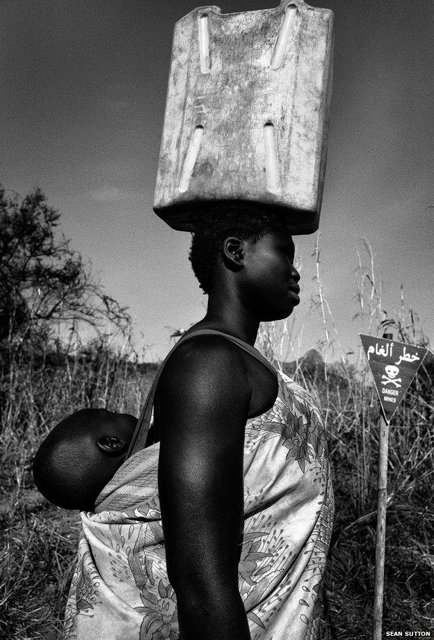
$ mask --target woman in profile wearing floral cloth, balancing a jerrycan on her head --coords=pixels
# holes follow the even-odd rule
[[[65,639],[312,640],[325,433],[310,394],[253,349],[259,323],[299,303],[294,243],[275,214],[226,206],[190,259],[207,314],[164,363],[145,447],[81,514]]]

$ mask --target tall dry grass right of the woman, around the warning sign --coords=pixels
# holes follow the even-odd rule
[[[328,429],[337,511],[321,639],[361,640],[371,637],[372,629],[380,409],[361,346],[353,362],[341,346],[321,281],[318,241],[314,257],[318,294],[312,305],[323,321],[323,335],[317,337],[323,357],[312,360],[308,354],[290,367],[280,364],[319,401]],[[402,286],[399,310],[392,317],[383,309],[369,243],[362,243],[357,257],[354,320],[360,333],[392,330],[401,342],[429,348],[417,314],[405,307]],[[278,362],[282,345],[295,342],[293,331],[294,323],[269,323],[258,345]],[[428,351],[390,425],[384,633],[419,630],[434,637],[433,474],[434,357]]]

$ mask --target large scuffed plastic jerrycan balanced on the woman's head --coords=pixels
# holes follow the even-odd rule
[[[303,0],[175,24],[154,211],[193,231],[221,202],[317,230],[327,155],[333,13]]]

